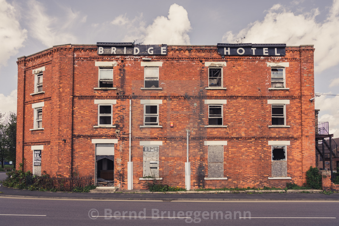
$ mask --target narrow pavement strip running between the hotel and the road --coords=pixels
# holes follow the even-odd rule
[[[4,179],[4,173],[0,172],[0,180]],[[87,193],[87,192],[45,192],[29,191],[14,188],[6,188],[0,184],[0,197],[34,197],[53,199],[98,199],[98,200],[224,200],[224,201],[283,201],[283,200],[308,200],[308,201],[338,201],[339,193],[326,195],[323,193],[228,193],[221,191],[206,191],[199,193],[178,192],[161,193],[146,192],[145,190],[118,190],[115,193]],[[122,192],[122,193],[120,193]],[[125,193],[126,192],[126,193]],[[260,192],[263,192],[262,190]]]

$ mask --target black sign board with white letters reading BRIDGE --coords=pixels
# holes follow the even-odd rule
[[[140,45],[131,42],[97,42],[99,55],[166,55],[167,45]]]

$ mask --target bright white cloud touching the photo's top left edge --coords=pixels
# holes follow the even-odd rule
[[[16,55],[27,38],[27,30],[21,29],[16,18],[18,12],[5,0],[0,0],[0,65]]]

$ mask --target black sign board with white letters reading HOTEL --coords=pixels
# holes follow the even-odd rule
[[[286,44],[226,44],[218,43],[218,53],[222,56],[284,56]]]

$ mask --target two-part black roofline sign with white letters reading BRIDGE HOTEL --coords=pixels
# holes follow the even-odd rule
[[[167,55],[167,45],[140,45],[132,42],[97,42],[99,55]],[[218,43],[224,56],[284,56],[286,44]]]

